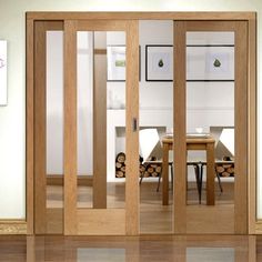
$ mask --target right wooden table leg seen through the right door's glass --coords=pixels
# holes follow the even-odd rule
[[[214,205],[214,143],[206,144],[206,204]]]

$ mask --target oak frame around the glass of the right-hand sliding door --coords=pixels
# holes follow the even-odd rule
[[[216,206],[215,210],[202,209],[187,205],[187,32],[214,31],[234,32],[234,129],[235,129],[235,153],[234,153],[234,205]],[[174,180],[174,232],[175,233],[248,233],[248,22],[246,21],[174,21],[174,127],[178,139],[174,142],[174,172],[180,174]],[[180,152],[180,153],[175,153]],[[206,159],[209,155],[206,155]],[[212,159],[214,155],[212,155]],[[214,172],[213,167],[208,172]],[[209,182],[206,180],[206,188]],[[214,185],[212,185],[214,187]],[[208,190],[208,189],[206,189]],[[238,198],[238,193],[241,196]],[[179,199],[179,201],[178,201]],[[233,224],[226,223],[226,219],[234,221]],[[210,224],[214,226],[206,228],[208,216]],[[221,219],[221,228],[215,223],[218,216]],[[187,218],[187,219],[185,219]],[[198,221],[198,222],[196,222]],[[195,223],[196,222],[196,223]],[[192,226],[192,224],[194,225]],[[192,231],[193,230],[193,231]]]

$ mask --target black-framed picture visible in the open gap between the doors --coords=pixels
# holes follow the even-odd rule
[[[145,81],[173,81],[173,46],[145,46]]]

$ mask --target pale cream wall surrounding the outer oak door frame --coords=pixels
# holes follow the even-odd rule
[[[26,11],[258,11],[261,0],[0,0],[0,39],[8,40],[8,107],[0,108],[0,218],[26,218]],[[259,87],[261,57],[259,52]],[[261,92],[259,93],[261,101]],[[261,113],[261,105],[259,108]],[[259,148],[261,148],[261,142]],[[259,163],[262,162],[259,158]],[[262,181],[260,182],[262,187]],[[262,190],[261,209],[262,218]]]

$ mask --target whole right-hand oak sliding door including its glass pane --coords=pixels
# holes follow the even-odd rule
[[[174,21],[174,232],[248,233],[248,22]],[[195,132],[212,143],[187,149]],[[190,157],[201,202],[185,183]]]

